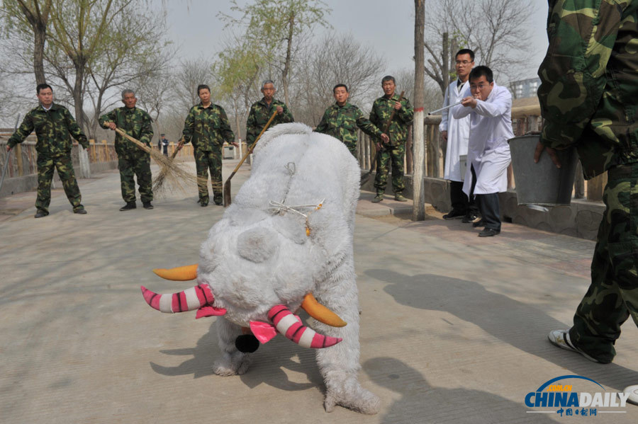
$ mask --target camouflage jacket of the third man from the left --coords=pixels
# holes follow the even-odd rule
[[[224,142],[234,142],[224,108],[214,103],[204,108],[201,103],[189,110],[184,121],[184,143],[192,142],[201,151],[220,151]]]

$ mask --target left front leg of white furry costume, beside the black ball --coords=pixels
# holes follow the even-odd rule
[[[219,316],[215,322],[222,356],[213,365],[213,372],[228,376],[244,374],[250,366],[250,353],[235,348],[235,339],[241,336],[242,328]]]

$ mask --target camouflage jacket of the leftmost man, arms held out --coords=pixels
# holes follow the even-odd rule
[[[86,149],[89,141],[75,122],[71,113],[62,105],[53,103],[47,111],[42,105],[31,109],[24,117],[22,125],[9,139],[9,147],[21,143],[35,130],[38,142],[35,150],[43,156],[63,156],[71,153],[71,136]]]

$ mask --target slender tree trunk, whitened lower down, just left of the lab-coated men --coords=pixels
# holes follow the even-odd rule
[[[423,32],[425,25],[425,0],[414,1],[414,123],[413,123],[413,205],[412,220],[425,219],[425,186],[423,185],[423,125],[425,103],[425,52]],[[447,33],[444,35],[447,38]],[[444,63],[445,63],[444,58]]]

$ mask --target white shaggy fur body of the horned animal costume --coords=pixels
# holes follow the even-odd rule
[[[310,319],[318,333],[343,339],[316,350],[326,411],[335,404],[379,411],[379,398],[357,381],[359,301],[352,238],[359,178],[357,161],[335,138],[299,123],[264,133],[254,149],[250,178],[200,251],[197,282],[210,286],[214,306],[225,309],[216,322],[223,353],[216,374],[247,371],[251,354],[235,347],[242,326],[271,322],[268,313],[278,304],[295,311],[311,292],[347,322],[335,328]]]

